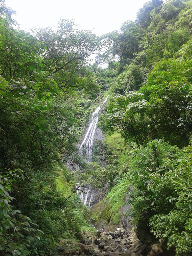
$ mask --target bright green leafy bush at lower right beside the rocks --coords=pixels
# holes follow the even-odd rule
[[[177,255],[191,252],[191,164],[191,146],[180,150],[155,140],[140,150],[129,172],[135,219],[149,220],[151,232]]]

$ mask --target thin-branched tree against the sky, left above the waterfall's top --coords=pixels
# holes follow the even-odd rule
[[[102,37],[79,30],[73,21],[64,19],[60,20],[56,32],[46,28],[34,33],[46,45],[43,54],[46,70],[62,90],[96,92],[94,75],[86,69],[86,63],[92,54],[102,50],[105,42]]]

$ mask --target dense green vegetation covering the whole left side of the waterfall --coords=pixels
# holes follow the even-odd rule
[[[100,90],[87,58],[102,39],[70,20],[32,36],[0,3],[0,254],[54,255],[88,225],[63,162],[82,162],[75,145]]]

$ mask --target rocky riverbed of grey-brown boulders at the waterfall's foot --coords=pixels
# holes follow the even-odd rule
[[[60,248],[60,255],[90,256],[164,256],[160,244],[142,244],[133,231],[97,233],[97,239],[82,241],[78,250],[70,251]]]

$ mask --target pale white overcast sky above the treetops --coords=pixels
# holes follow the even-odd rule
[[[119,30],[126,20],[135,20],[136,12],[147,0],[5,0],[16,10],[20,28],[57,26],[60,18],[74,19],[97,35]]]

